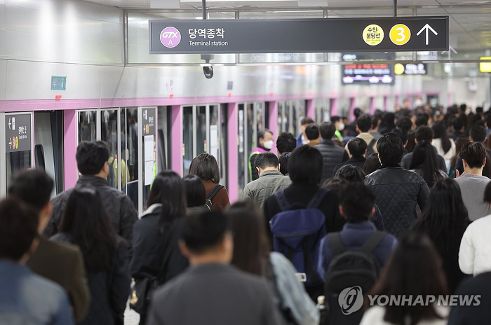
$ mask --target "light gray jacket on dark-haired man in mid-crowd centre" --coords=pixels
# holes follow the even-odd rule
[[[290,177],[283,176],[278,170],[267,170],[258,179],[245,186],[242,198],[256,202],[262,209],[267,198],[290,184],[292,184]]]

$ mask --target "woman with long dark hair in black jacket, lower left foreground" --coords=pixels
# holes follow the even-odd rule
[[[116,235],[94,186],[72,190],[59,232],[51,240],[75,244],[82,252],[90,307],[80,324],[122,325],[131,282],[128,249],[123,238]]]

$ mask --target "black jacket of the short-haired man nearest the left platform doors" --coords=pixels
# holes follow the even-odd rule
[[[128,257],[131,258],[131,247],[133,243],[133,224],[138,220],[138,214],[135,210],[133,202],[131,202],[128,196],[118,191],[116,188],[112,188],[107,184],[105,179],[95,176],[81,176],[79,181],[76,182],[76,186],[84,184],[90,184],[97,188],[104,207],[111,223],[114,226],[114,230],[118,235],[126,240],[128,246]],[[65,205],[67,205],[68,198],[72,193],[72,189],[62,192],[51,201],[53,203],[53,216],[44,230],[46,237],[51,237],[58,233],[58,227],[60,226]]]

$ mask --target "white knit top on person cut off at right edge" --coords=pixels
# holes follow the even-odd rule
[[[459,267],[465,274],[491,271],[491,214],[467,227],[459,249]]]

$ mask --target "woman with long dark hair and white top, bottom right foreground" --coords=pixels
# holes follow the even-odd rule
[[[370,307],[360,325],[446,325],[448,307],[435,303],[415,303],[418,296],[423,302],[433,296],[447,294],[445,273],[440,256],[428,236],[408,233],[389,258],[379,280],[368,293],[370,296],[401,297],[412,299],[411,303]],[[377,300],[375,300],[377,302]]]

